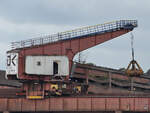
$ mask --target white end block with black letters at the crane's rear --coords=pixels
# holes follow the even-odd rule
[[[18,75],[18,53],[7,54],[6,75]]]

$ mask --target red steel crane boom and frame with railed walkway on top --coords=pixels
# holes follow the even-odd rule
[[[71,72],[73,57],[78,52],[128,33],[135,27],[137,27],[136,20],[120,20],[62,32],[44,38],[14,42],[12,48],[16,50],[12,51],[19,53],[18,78],[39,79],[37,76],[25,75],[25,57],[28,55],[67,56]],[[40,79],[47,80],[46,77]]]

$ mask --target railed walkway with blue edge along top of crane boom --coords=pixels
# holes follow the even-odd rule
[[[133,29],[137,27],[137,20],[119,20],[105,24],[98,24],[89,27],[83,27],[71,31],[60,32],[53,35],[47,35],[44,37],[12,42],[12,49],[31,47],[36,45],[43,45],[48,43],[57,42],[60,40],[70,40],[74,38],[81,38],[85,36],[92,36],[97,34],[103,34],[107,32],[117,31],[120,29]]]

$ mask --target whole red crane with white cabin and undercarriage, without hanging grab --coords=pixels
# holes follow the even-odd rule
[[[70,80],[74,56],[128,33],[135,27],[136,20],[119,20],[12,42],[12,50],[7,52],[6,77],[21,81],[22,92],[30,99],[44,98],[52,92],[61,95],[67,89],[76,89],[79,93],[84,89],[82,86],[86,85]]]

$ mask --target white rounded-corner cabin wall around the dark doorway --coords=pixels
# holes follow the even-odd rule
[[[54,75],[54,62],[58,63],[58,76],[69,75],[69,60],[66,56],[26,56],[25,72],[32,75]]]

